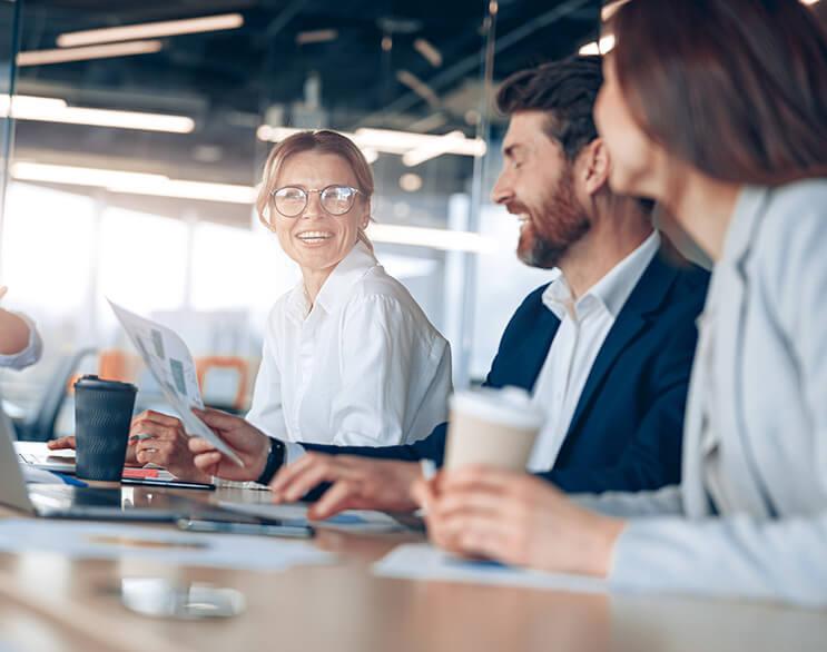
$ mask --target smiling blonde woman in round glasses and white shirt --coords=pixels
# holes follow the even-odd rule
[[[267,158],[258,216],[302,281],[267,320],[247,418],[278,441],[410,443],[445,418],[451,352],[374,256],[373,190],[362,151],[334,131],[296,134]]]

